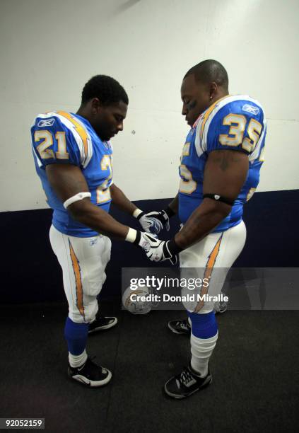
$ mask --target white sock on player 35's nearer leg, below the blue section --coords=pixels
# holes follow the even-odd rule
[[[218,333],[211,338],[199,338],[191,334],[191,366],[199,376],[205,377],[208,374],[208,364],[213,348],[216,346]]]

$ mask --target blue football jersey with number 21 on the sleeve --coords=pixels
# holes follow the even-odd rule
[[[35,117],[31,127],[33,156],[37,175],[54,210],[52,224],[69,236],[96,236],[98,232],[71,218],[47,180],[46,166],[73,164],[81,168],[93,204],[109,212],[112,185],[112,146],[102,142],[88,120],[79,115],[57,111]]]

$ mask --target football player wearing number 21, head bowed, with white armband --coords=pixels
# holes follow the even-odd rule
[[[94,76],[83,88],[76,114],[39,114],[31,128],[36,171],[54,210],[50,243],[62,268],[69,303],[64,328],[68,373],[90,387],[103,386],[112,376],[86,354],[88,333],[117,323],[117,318],[98,314],[110,238],[147,245],[145,233],[108,214],[111,201],[134,217],[141,213],[112,181],[110,139],[122,131],[128,103],[127,93],[115,79]],[[141,216],[139,221],[148,230],[153,224],[149,217]]]

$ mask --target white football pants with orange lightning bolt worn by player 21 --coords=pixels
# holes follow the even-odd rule
[[[69,318],[76,323],[89,323],[98,312],[97,296],[106,279],[110,238],[102,235],[77,238],[61,233],[54,226],[49,238],[62,268]]]

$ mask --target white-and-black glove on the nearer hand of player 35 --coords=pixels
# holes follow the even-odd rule
[[[146,236],[148,246],[143,248],[146,250],[146,255],[153,262],[164,262],[169,260],[172,265],[176,265],[178,262],[178,254],[182,251],[182,248],[177,246],[175,240],[161,241],[160,239],[153,238],[152,236]]]

